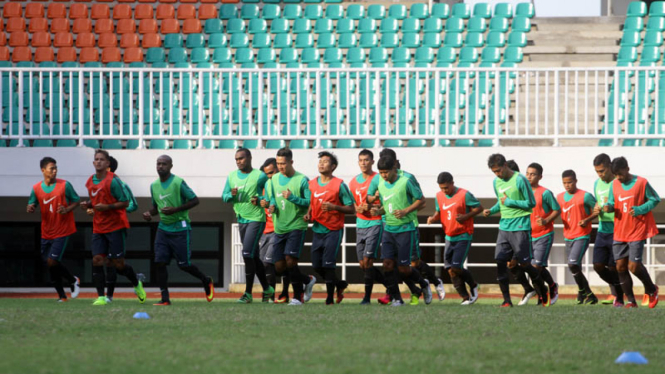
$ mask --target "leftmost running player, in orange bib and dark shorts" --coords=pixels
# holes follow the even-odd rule
[[[42,259],[46,262],[51,281],[58,293],[58,302],[67,301],[62,280],[67,281],[70,295],[79,295],[81,284],[78,277],[62,264],[69,237],[76,232],[74,213],[79,206],[79,196],[74,187],[64,179],[58,179],[58,165],[52,157],[44,157],[39,162],[44,180],[32,186],[28,200],[28,213],[34,213],[37,205],[42,216]]]

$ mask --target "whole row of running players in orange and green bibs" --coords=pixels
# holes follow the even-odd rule
[[[395,152],[388,148],[381,151],[377,172],[373,153],[367,149],[360,151],[360,173],[348,186],[334,176],[338,166],[334,154],[323,151],[318,158],[319,175],[310,180],[295,170],[293,154],[288,148],[267,159],[260,170],[252,167],[248,149],[236,151],[238,170],[229,174],[222,199],[233,205],[242,241],[246,289],[238,302],[253,301],[255,278],[263,288],[263,302],[303,305],[311,299],[317,279],[305,274],[298,265],[311,223],[314,271],[325,281],[326,304],[340,303],[348,283],[337,277],[335,267],[346,214],[356,215],[356,250],[365,283],[361,305],[371,303],[375,283],[386,289],[385,295],[378,299],[380,304],[405,305],[400,282],[410,290],[410,305],[417,305],[421,296],[430,304],[431,286],[435,287],[439,300],[443,300],[442,280],[420,256],[417,214],[425,207],[425,198],[415,176],[401,169]],[[72,211],[79,205],[93,216],[93,283],[99,296],[93,305],[112,301],[116,273],[126,276],[134,285],[139,301],[145,301],[140,277],[124,261],[124,238],[129,228],[126,212],[136,209],[136,204],[131,190],[113,173],[117,168],[117,162],[113,161],[106,151],[95,152],[95,174],[86,183],[90,197],[86,202],[79,201],[68,182],[56,178],[54,159],[46,157],[41,161],[44,180],[33,186],[28,212],[33,212],[39,204],[42,254],[60,301],[67,300],[63,279],[70,285],[72,298],[79,292],[79,279],[61,263],[67,238],[76,231]],[[462,298],[462,305],[471,305],[478,299],[479,286],[464,266],[471,247],[474,217],[496,213],[501,214],[495,259],[504,299],[502,307],[513,305],[509,272],[524,288],[519,305],[527,304],[535,296],[538,304],[546,307],[558,300],[558,285],[547,270],[553,224],[558,217],[564,225],[568,267],[579,288],[578,304],[599,302],[581,269],[595,218],[599,227],[593,266],[612,293],[603,303],[637,307],[632,273],[644,284],[642,305],[654,308],[658,304],[658,286],[642,264],[642,257],[646,239],[658,233],[652,210],[660,198],[646,179],[630,174],[623,157],[612,160],[600,154],[593,166],[599,177],[593,194],[578,189],[575,172],[566,170],[562,173],[565,191],[555,197],[539,184],[543,176],[541,165],[530,164],[524,176],[513,161],[493,154],[488,167],[496,176],[494,191],[498,201],[490,209],[484,209],[471,192],[457,187],[450,173],[438,175],[441,191],[436,194],[435,214],[427,218],[427,223],[441,223],[445,234],[445,269]],[[159,179],[151,185],[152,208],[143,213],[146,221],[160,216],[155,262],[162,300],[155,305],[171,304],[166,266],[172,258],[180,269],[201,280],[206,299],[212,301],[212,278],[190,261],[188,211],[199,201],[182,178],[171,174],[172,167],[169,156],[157,159]],[[383,271],[375,266],[379,251]],[[282,292],[275,295],[278,277],[282,278]],[[293,290],[292,298],[289,288]]]

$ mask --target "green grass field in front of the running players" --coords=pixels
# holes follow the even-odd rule
[[[0,373],[665,372],[665,308],[91,302],[0,299]]]

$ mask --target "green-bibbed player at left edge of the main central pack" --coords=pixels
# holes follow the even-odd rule
[[[253,300],[254,276],[259,278],[263,287],[263,300],[275,294],[275,289],[266,279],[266,270],[259,253],[259,240],[266,226],[266,213],[259,205],[259,194],[263,194],[268,177],[264,172],[252,168],[252,153],[249,149],[238,149],[235,160],[238,170],[226,179],[222,200],[233,204],[238,218],[242,258],[245,262],[245,293],[238,302],[249,304]]]

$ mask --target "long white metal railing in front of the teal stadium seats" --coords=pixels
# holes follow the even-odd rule
[[[134,140],[136,148],[150,140],[203,148],[220,140],[438,147],[665,139],[665,67],[0,68],[0,75],[0,139],[19,146],[32,139]]]

